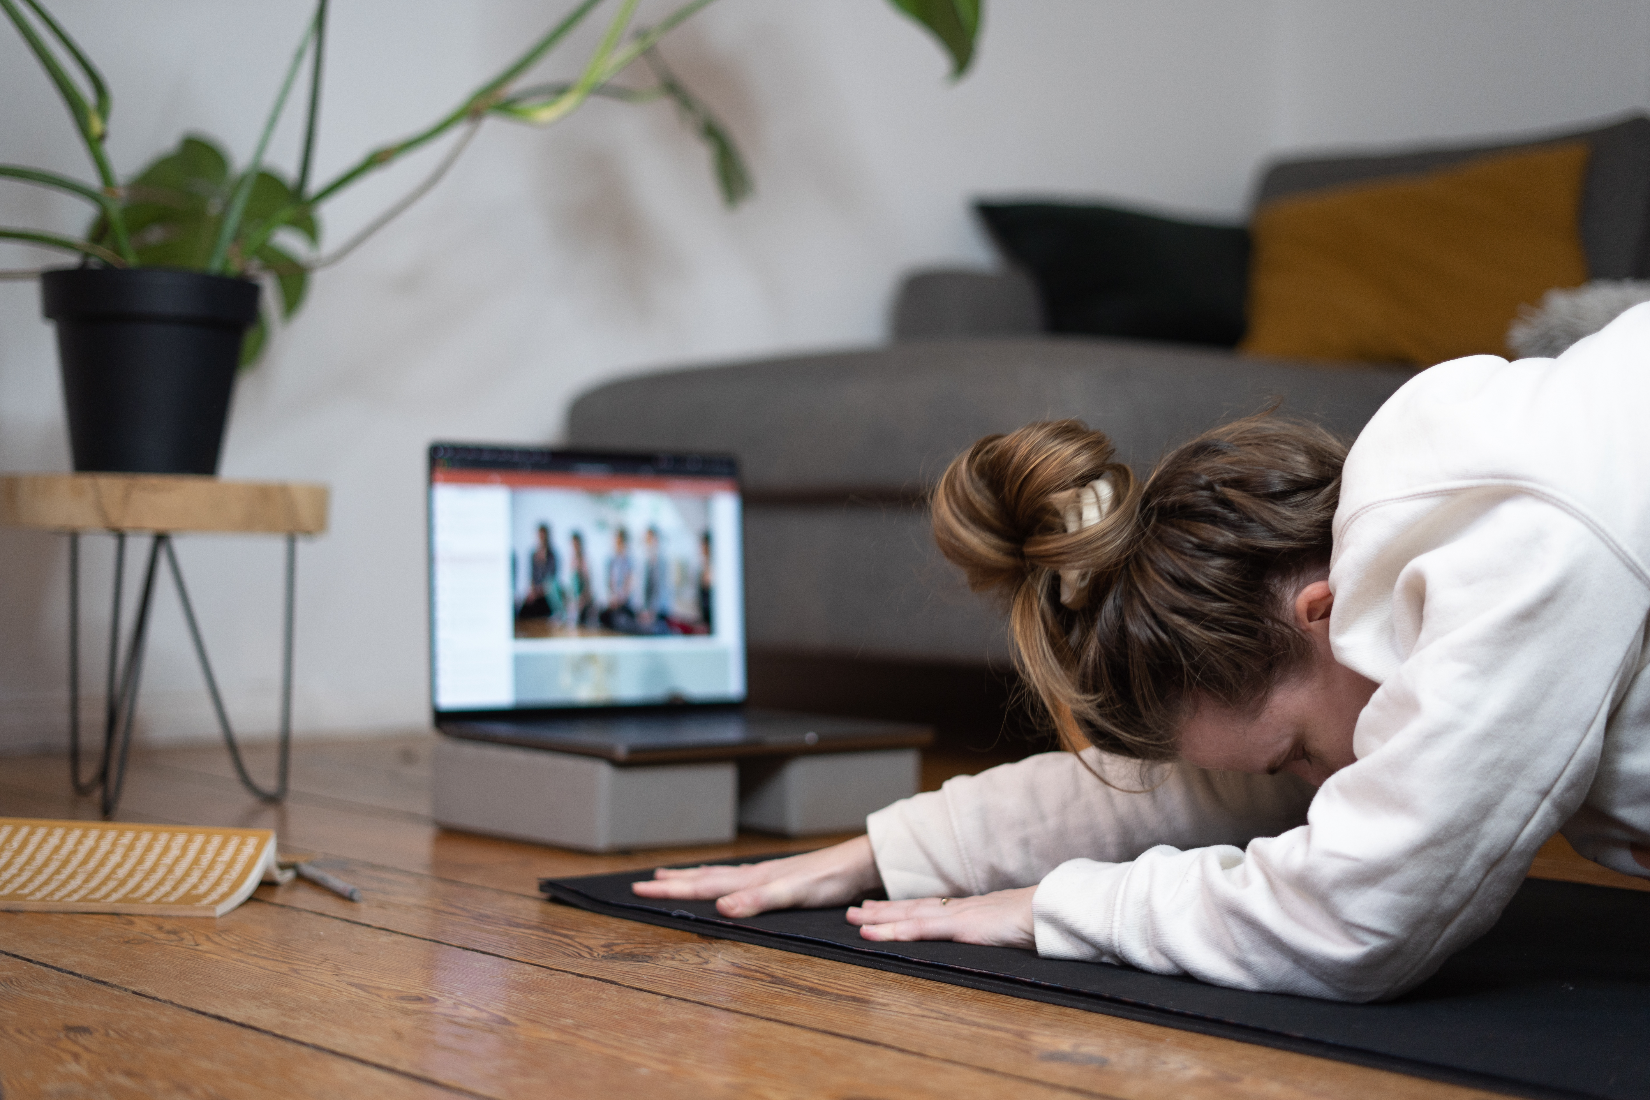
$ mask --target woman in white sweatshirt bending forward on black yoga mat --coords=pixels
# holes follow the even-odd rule
[[[1092,747],[637,892],[744,915],[881,886],[848,910],[871,940],[1376,999],[1488,928],[1558,830],[1650,874],[1647,360],[1640,307],[1558,360],[1424,371],[1345,458],[1257,417],[1143,485],[1076,422],[980,440],[936,538]]]

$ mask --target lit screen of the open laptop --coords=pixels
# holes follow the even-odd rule
[[[742,703],[738,463],[432,444],[437,712]]]

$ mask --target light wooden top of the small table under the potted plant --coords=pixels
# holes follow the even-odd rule
[[[327,487],[183,473],[0,473],[0,524],[45,531],[320,534]]]

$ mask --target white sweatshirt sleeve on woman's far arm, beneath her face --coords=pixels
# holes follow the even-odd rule
[[[1079,856],[1134,859],[1163,841],[1244,844],[1304,821],[1312,793],[1289,775],[1046,752],[896,801],[866,828],[889,897],[967,897],[1033,886]]]

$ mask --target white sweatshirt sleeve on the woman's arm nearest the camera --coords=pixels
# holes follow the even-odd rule
[[[1355,516],[1336,552],[1336,658],[1381,683],[1356,762],[1247,848],[1061,864],[1033,902],[1040,953],[1366,1001],[1500,915],[1592,782],[1643,574],[1587,516],[1495,487]],[[1343,592],[1368,584],[1384,599]]]

